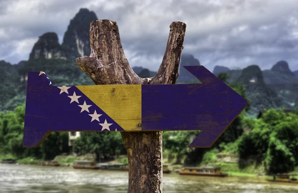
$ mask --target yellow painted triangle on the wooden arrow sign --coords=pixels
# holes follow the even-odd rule
[[[76,86],[126,131],[141,131],[142,85]]]

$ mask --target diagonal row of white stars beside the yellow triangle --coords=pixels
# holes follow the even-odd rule
[[[67,93],[67,94],[69,94],[69,93],[68,93],[68,89],[71,88],[71,86],[57,86],[57,87],[61,89],[60,94],[62,94],[62,93],[64,93],[64,92]],[[75,94],[75,91],[74,91],[73,96],[70,95],[70,96],[68,96],[68,97],[70,97],[70,98],[72,99],[72,100],[71,100],[71,103],[72,103],[72,102],[77,102],[77,103],[79,103],[79,102],[78,102],[78,98],[80,98],[81,96],[77,96],[77,95]],[[81,108],[81,112],[83,112],[83,111],[87,111],[88,113],[90,113],[88,108],[91,107],[92,105],[87,105],[87,104],[86,104],[86,101],[84,101],[84,103],[83,103],[82,105],[78,105],[78,106]],[[80,113],[81,113],[81,112],[80,112]],[[99,121],[99,117],[102,116],[102,114],[97,114],[97,113],[96,113],[96,110],[94,110],[94,113],[93,113],[93,114],[88,114],[88,115],[89,115],[90,117],[92,117],[91,122],[94,121],[94,120],[100,122],[100,121]],[[113,124],[108,124],[108,123],[107,123],[107,120],[105,120],[103,124],[99,124],[99,125],[102,126],[102,129],[101,129],[101,130],[104,130],[104,129],[110,130],[110,126],[113,125]],[[117,129],[115,129],[115,131],[117,131]]]

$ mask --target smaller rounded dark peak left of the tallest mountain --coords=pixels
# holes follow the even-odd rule
[[[47,32],[39,36],[29,55],[29,60],[32,59],[66,59],[55,32]]]

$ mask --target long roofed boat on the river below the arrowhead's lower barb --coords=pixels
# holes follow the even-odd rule
[[[185,167],[180,175],[195,175],[195,176],[212,176],[212,177],[226,177],[227,174],[221,172],[221,167]]]

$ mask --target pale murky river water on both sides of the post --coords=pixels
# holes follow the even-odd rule
[[[127,193],[128,172],[0,164],[0,193]],[[298,193],[262,178],[163,175],[163,193]]]

